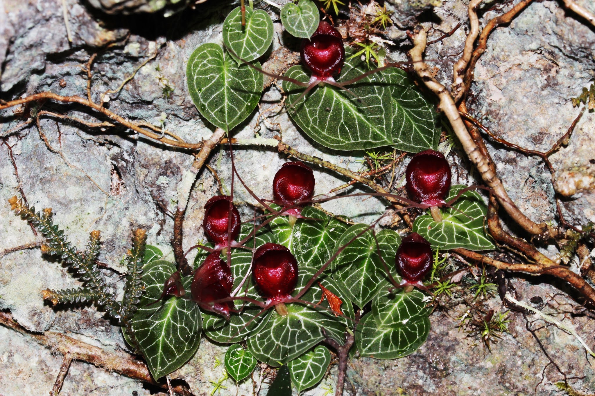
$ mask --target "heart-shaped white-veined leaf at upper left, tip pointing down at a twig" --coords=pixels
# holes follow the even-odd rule
[[[257,68],[261,64],[254,62]],[[194,50],[186,66],[188,91],[201,115],[229,132],[255,109],[262,93],[262,74],[237,65],[218,44]]]

